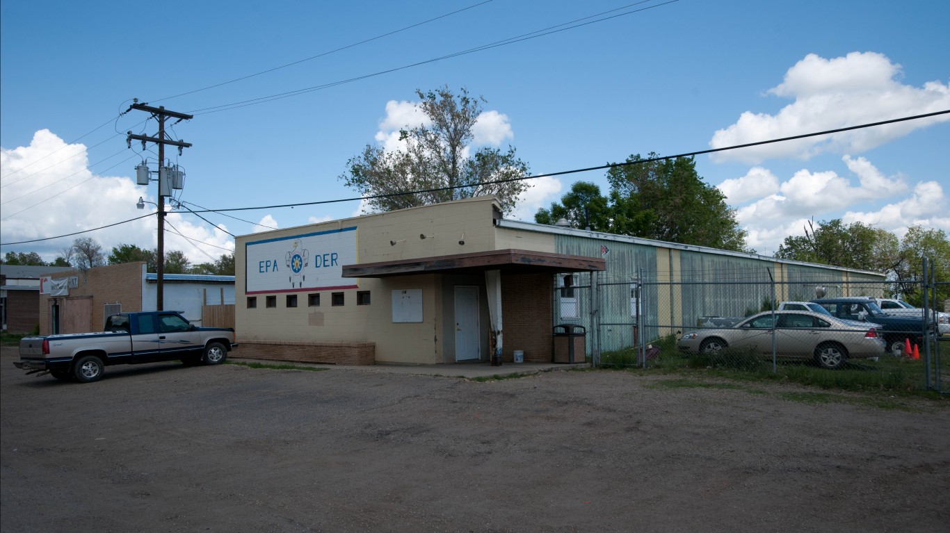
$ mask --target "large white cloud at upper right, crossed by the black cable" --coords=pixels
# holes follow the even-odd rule
[[[794,99],[777,114],[742,113],[739,120],[712,135],[710,146],[721,148],[850,125],[867,124],[950,108],[950,84],[902,85],[901,66],[880,53],[851,52],[825,59],[808,54],[789,68],[785,80],[769,94]],[[950,116],[887,124],[786,143],[728,150],[712,161],[758,163],[769,158],[808,159],[823,152],[861,153]]]

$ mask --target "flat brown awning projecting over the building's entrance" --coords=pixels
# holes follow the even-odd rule
[[[566,256],[529,250],[492,250],[454,256],[420,257],[343,265],[343,277],[387,277],[417,274],[503,272],[602,272],[606,261],[597,257]]]

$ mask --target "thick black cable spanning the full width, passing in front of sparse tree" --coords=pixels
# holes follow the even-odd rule
[[[587,168],[579,168],[579,169],[574,169],[574,170],[563,170],[563,171],[561,171],[561,172],[549,172],[549,173],[546,173],[546,174],[539,174],[539,175],[537,175],[537,176],[523,176],[522,178],[512,178],[512,179],[508,179],[508,180],[483,181],[482,183],[479,183],[479,184],[488,185],[488,184],[495,184],[495,183],[505,183],[505,182],[509,182],[509,181],[535,180],[535,179],[538,179],[538,178],[548,178],[548,177],[551,177],[551,176],[564,176],[564,175],[568,175],[568,174],[577,174],[577,173],[580,173],[580,172],[589,172],[589,171],[591,171],[591,170],[603,170],[603,169],[606,169],[606,168],[614,168],[614,167],[618,167],[618,166],[630,166],[630,165],[634,165],[634,164],[642,164],[642,163],[645,163],[645,162],[658,162],[658,161],[673,160],[673,159],[685,158],[685,157],[694,157],[694,156],[703,155],[703,154],[711,154],[711,153],[713,153],[713,152],[724,152],[724,151],[727,151],[727,150],[737,150],[737,149],[739,149],[739,148],[748,148],[748,147],[750,147],[750,146],[759,146],[759,145],[762,145],[762,144],[784,143],[784,142],[788,142],[788,141],[794,141],[794,140],[797,140],[797,139],[806,139],[806,138],[808,138],[808,137],[818,137],[818,136],[821,136],[821,135],[828,135],[828,134],[831,134],[831,133],[839,133],[839,132],[842,132],[842,131],[851,131],[851,130],[855,130],[855,129],[862,129],[862,128],[866,128],[866,127],[874,127],[874,126],[884,125],[884,124],[895,124],[895,123],[901,123],[901,122],[906,122],[906,121],[913,121],[913,120],[925,119],[925,118],[929,118],[929,117],[935,117],[935,116],[938,116],[938,115],[945,115],[945,114],[948,114],[948,113],[950,113],[950,109],[945,109],[945,110],[942,110],[942,111],[934,111],[933,113],[924,113],[924,114],[922,114],[922,115],[914,115],[914,116],[910,116],[910,117],[902,117],[902,118],[900,118],[900,119],[891,119],[891,120],[888,120],[888,121],[880,121],[880,122],[876,122],[876,123],[860,124],[860,125],[853,125],[853,126],[847,126],[847,127],[839,127],[839,128],[835,128],[835,129],[827,129],[827,130],[825,130],[825,131],[819,131],[819,132],[816,132],[816,133],[805,133],[805,134],[802,134],[802,135],[793,135],[793,136],[791,136],[791,137],[783,137],[783,138],[780,138],[780,139],[772,139],[772,140],[769,140],[769,141],[759,141],[759,142],[756,142],[756,143],[735,144],[735,145],[732,145],[732,146],[724,146],[724,147],[721,147],[721,148],[711,148],[711,149],[708,149],[708,150],[697,150],[697,151],[694,151],[694,152],[686,152],[686,153],[682,153],[682,154],[676,154],[676,155],[674,155],[674,156],[661,156],[661,157],[650,158],[650,159],[642,159],[642,160],[637,160],[637,161],[635,161],[635,162],[614,162],[614,163],[608,163],[608,164],[601,164],[601,165],[599,165],[599,166],[590,166],[590,167],[587,167]],[[205,210],[203,210],[203,211],[192,211],[192,213],[195,213],[196,215],[197,215],[198,213],[218,213],[218,214],[222,214],[222,215],[223,215],[224,212],[228,212],[228,211],[251,211],[251,210],[257,210],[257,209],[277,209],[277,208],[281,208],[281,207],[296,207],[296,206],[301,206],[301,205],[318,205],[318,204],[326,204],[326,203],[339,203],[339,202],[343,202],[343,201],[372,200],[372,199],[377,199],[377,198],[390,198],[390,197],[395,197],[395,196],[406,196],[406,195],[412,195],[412,194],[418,194],[418,193],[428,193],[428,192],[436,192],[436,191],[447,191],[447,190],[459,189],[459,188],[464,188],[464,187],[469,187],[469,186],[471,186],[471,185],[455,185],[455,186],[451,186],[451,187],[436,187],[436,188],[432,188],[432,189],[422,189],[422,190],[416,190],[416,191],[404,191],[404,192],[400,192],[400,193],[390,193],[390,194],[386,194],[386,195],[376,195],[376,196],[367,196],[367,197],[356,197],[356,198],[347,198],[347,199],[338,199],[338,200],[320,200],[320,201],[307,201],[307,202],[300,202],[300,203],[286,203],[286,204],[282,204],[282,205],[263,205],[263,206],[258,206],[258,207],[233,207],[233,208],[226,208],[226,209],[205,209]],[[189,211],[191,211],[191,210],[189,209]],[[89,233],[89,232],[93,232],[93,231],[98,231],[98,230],[101,230],[101,229],[104,229],[104,228],[116,226],[116,225],[119,225],[119,224],[124,224],[124,223],[126,223],[126,222],[131,222],[131,221],[133,221],[133,220],[143,219],[144,217],[149,217],[149,216],[151,216],[151,215],[143,215],[142,217],[137,217],[137,218],[135,218],[135,219],[123,220],[123,221],[121,221],[121,222],[116,222],[116,223],[114,223],[114,224],[108,224],[108,225],[106,225],[106,226],[101,226],[101,227],[98,227],[98,228],[93,228],[93,229],[89,229],[89,230],[84,230],[84,231],[81,231],[81,232],[71,233],[71,234],[67,234],[67,235],[61,235],[61,236],[58,236],[58,237],[37,238],[37,239],[33,239],[33,240],[22,240],[22,241],[19,241],[19,242],[3,242],[3,243],[0,243],[0,246],[12,246],[12,245],[14,245],[14,244],[28,244],[28,243],[30,243],[30,242],[40,242],[40,241],[43,241],[43,240],[52,240],[52,239],[54,239],[54,238],[72,237],[72,236],[74,236],[74,235],[80,235],[80,234],[83,234],[83,233]],[[247,220],[244,220],[244,221],[247,221]],[[209,222],[209,223],[210,223],[210,222]],[[251,222],[249,222],[249,223],[251,223]],[[213,246],[213,245],[212,245],[212,246]]]

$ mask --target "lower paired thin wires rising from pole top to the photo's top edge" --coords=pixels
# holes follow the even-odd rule
[[[633,7],[633,6],[638,6],[638,5],[640,5],[640,4],[645,4],[645,3],[647,3],[647,2],[652,2],[652,1],[654,1],[654,0],[642,0],[642,1],[640,1],[640,2],[636,2],[636,3],[634,3],[634,4],[630,4],[630,5],[624,6],[624,7],[622,7],[622,8],[618,8],[618,9],[616,9],[616,10],[622,10],[622,9],[630,8],[630,7]],[[567,31],[568,29],[577,29],[577,28],[580,28],[580,27],[583,27],[583,26],[588,26],[588,25],[591,25],[591,24],[597,24],[597,23],[599,23],[599,22],[603,22],[603,21],[606,21],[606,20],[610,20],[610,19],[614,19],[614,18],[621,17],[621,16],[629,15],[629,14],[636,13],[636,12],[639,12],[639,11],[652,10],[652,9],[654,9],[654,8],[659,8],[659,7],[665,6],[665,5],[667,5],[667,4],[673,4],[673,3],[678,2],[678,1],[679,1],[679,0],[669,0],[669,1],[667,1],[667,2],[663,2],[663,3],[661,3],[661,4],[656,4],[656,5],[654,5],[654,6],[647,6],[647,7],[645,7],[645,8],[640,8],[640,9],[637,9],[637,10],[625,11],[625,12],[622,12],[622,13],[618,13],[618,14],[611,15],[611,16],[608,16],[608,17],[600,18],[600,19],[597,19],[597,20],[592,20],[592,21],[588,21],[588,22],[581,23],[581,24],[576,24],[576,25],[574,25],[574,26],[568,26],[567,28],[561,28],[562,26],[565,26],[565,25],[574,24],[574,23],[576,23],[576,22],[584,21],[584,20],[587,20],[587,19],[589,19],[589,18],[596,17],[596,16],[600,16],[600,15],[602,15],[602,14],[610,13],[610,12],[613,12],[613,11],[616,11],[616,10],[603,11],[603,12],[598,13],[598,14],[595,14],[595,15],[588,15],[588,16],[582,17],[582,18],[580,18],[580,19],[575,19],[575,20],[573,20],[573,21],[561,23],[561,24],[559,24],[559,25],[551,26],[551,27],[548,27],[548,28],[545,28],[545,29],[537,29],[537,30],[535,30],[535,31],[531,31],[531,32],[528,32],[528,33],[523,33],[523,34],[521,34],[521,35],[516,35],[515,37],[509,37],[509,38],[507,38],[507,39],[503,39],[503,40],[501,40],[501,41],[496,41],[496,42],[494,42],[494,43],[489,43],[489,44],[487,44],[487,45],[482,45],[482,46],[480,46],[480,47],[468,48],[468,49],[466,49],[466,50],[462,50],[462,51],[450,53],[450,54],[447,54],[447,55],[443,55],[443,56],[431,58],[431,59],[428,59],[428,60],[425,60],[425,61],[420,61],[420,62],[417,62],[417,63],[412,63],[412,64],[409,64],[409,65],[405,65],[405,66],[403,66],[403,67],[393,67],[393,68],[389,68],[389,69],[386,69],[386,70],[380,70],[380,71],[377,71],[377,72],[373,72],[373,73],[371,73],[371,74],[364,74],[364,75],[362,75],[362,76],[356,76],[356,77],[354,77],[354,78],[349,78],[349,79],[346,79],[346,80],[338,80],[338,81],[335,81],[335,82],[330,82],[330,83],[322,84],[322,85],[319,85],[319,86],[304,87],[304,88],[301,88],[301,89],[295,89],[295,90],[291,90],[291,91],[287,91],[287,92],[281,92],[281,93],[272,94],[272,95],[270,95],[270,96],[261,96],[261,97],[258,97],[258,98],[252,98],[252,99],[250,99],[250,100],[243,100],[243,101],[240,101],[240,102],[233,102],[233,103],[231,103],[231,104],[222,104],[222,105],[213,105],[213,106],[211,106],[211,107],[203,107],[203,108],[200,108],[200,109],[194,109],[194,110],[192,110],[192,111],[189,111],[189,113],[192,113],[192,114],[195,114],[195,115],[207,115],[207,114],[209,114],[209,113],[218,113],[218,112],[221,112],[221,111],[229,111],[229,110],[231,110],[231,109],[237,109],[237,108],[239,108],[239,107],[247,107],[247,106],[249,106],[249,105],[266,104],[266,103],[268,103],[268,102],[274,102],[274,101],[276,101],[276,100],[283,100],[284,98],[291,98],[291,97],[298,96],[298,95],[301,95],[301,94],[306,94],[306,93],[308,93],[308,92],[314,92],[314,91],[316,91],[316,90],[322,90],[322,89],[330,88],[330,87],[333,87],[333,86],[341,86],[341,85],[344,85],[344,84],[350,84],[350,83],[352,83],[352,82],[357,82],[357,81],[360,81],[360,80],[365,80],[365,79],[368,79],[368,78],[373,78],[373,77],[376,77],[376,76],[381,76],[381,75],[383,75],[383,74],[389,74],[390,72],[397,72],[397,71],[399,71],[399,70],[405,70],[405,69],[411,68],[411,67],[419,67],[419,66],[421,66],[421,65],[428,65],[429,63],[435,63],[435,62],[442,61],[442,60],[445,60],[445,59],[450,59],[450,58],[453,58],[453,57],[458,57],[458,56],[462,56],[462,55],[467,55],[467,54],[470,54],[470,53],[475,53],[475,52],[487,50],[487,49],[490,49],[490,48],[504,47],[504,46],[506,46],[506,45],[512,45],[512,44],[520,43],[520,42],[522,42],[522,41],[527,41],[527,40],[530,40],[530,39],[537,39],[538,37],[543,37],[543,36],[545,36],[545,35],[550,35],[550,34],[552,34],[552,33],[559,33],[559,32],[561,32],[561,31]],[[202,111],[203,111],[203,112],[202,112]]]

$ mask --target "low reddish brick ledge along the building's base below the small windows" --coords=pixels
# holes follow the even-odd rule
[[[237,339],[233,359],[267,359],[295,363],[331,365],[375,365],[376,345],[372,342],[306,342]]]

